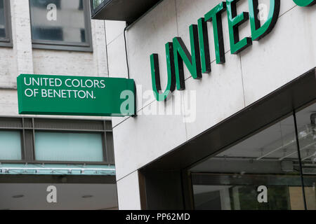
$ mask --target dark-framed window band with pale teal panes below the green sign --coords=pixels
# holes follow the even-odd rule
[[[0,118],[0,163],[114,165],[107,120]]]

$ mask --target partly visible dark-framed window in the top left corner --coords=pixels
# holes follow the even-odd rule
[[[0,0],[0,46],[12,46],[10,1],[8,0]]]

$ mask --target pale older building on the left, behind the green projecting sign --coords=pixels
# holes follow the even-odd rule
[[[18,115],[21,73],[108,76],[89,2],[1,0],[0,66],[0,209],[117,209],[110,118]]]

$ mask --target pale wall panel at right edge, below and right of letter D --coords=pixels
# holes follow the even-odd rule
[[[242,52],[246,105],[316,65],[315,20],[314,7],[296,6],[279,18],[268,36]]]

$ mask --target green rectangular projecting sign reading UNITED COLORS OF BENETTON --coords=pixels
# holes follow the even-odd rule
[[[20,114],[135,116],[133,79],[86,76],[18,76]]]

